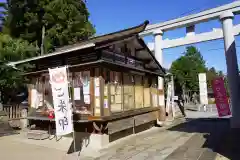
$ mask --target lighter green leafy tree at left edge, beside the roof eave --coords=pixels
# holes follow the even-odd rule
[[[16,69],[7,65],[8,62],[29,58],[37,53],[37,48],[27,41],[0,34],[0,91],[3,103],[8,103],[14,98],[14,95],[19,91],[18,89],[24,87],[27,79],[22,74],[24,70],[32,67],[24,64]]]

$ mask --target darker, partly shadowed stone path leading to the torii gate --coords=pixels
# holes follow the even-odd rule
[[[228,128],[227,119],[201,118],[193,119],[187,124],[170,130],[195,133],[184,145],[170,154],[166,160],[214,160],[222,138]]]

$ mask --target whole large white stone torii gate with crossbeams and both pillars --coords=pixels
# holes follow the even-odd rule
[[[240,1],[236,1],[217,8],[202,11],[197,14],[148,25],[145,31],[140,34],[142,37],[154,35],[154,43],[150,43],[149,48],[154,50],[155,57],[161,65],[163,64],[163,49],[222,38],[224,39],[227,78],[229,82],[232,105],[232,128],[240,128],[240,85],[234,37],[240,34],[240,24],[233,26],[234,15],[239,13]],[[221,21],[222,29],[213,29],[211,32],[195,34],[195,25],[215,19],[219,19]],[[173,40],[163,40],[164,32],[182,27],[186,28],[185,37]],[[161,77],[158,78],[158,84],[158,89],[163,90],[163,79]],[[164,106],[164,95],[159,96],[159,105]]]

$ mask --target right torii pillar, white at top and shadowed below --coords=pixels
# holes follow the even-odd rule
[[[223,28],[225,56],[227,63],[227,79],[230,89],[232,107],[231,128],[240,128],[240,88],[239,71],[236,55],[236,44],[233,29],[234,15],[230,11],[220,16]]]

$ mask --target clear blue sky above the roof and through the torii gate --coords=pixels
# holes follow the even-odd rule
[[[127,27],[132,27],[149,20],[158,23],[178,18],[187,14],[197,13],[201,10],[231,3],[234,0],[87,0],[90,20],[95,25],[97,34],[105,34]],[[234,23],[239,22],[236,17]],[[219,21],[212,21],[196,26],[196,32],[211,31],[220,28]],[[178,29],[164,33],[164,38],[178,38],[185,34],[185,29]],[[146,42],[152,41],[147,37]],[[240,46],[240,38],[236,37]],[[223,41],[211,41],[195,45],[201,51],[208,67],[215,67],[226,72],[226,62],[223,50]],[[239,48],[240,49],[240,48]],[[185,47],[164,50],[164,66],[168,67],[172,61],[183,53]],[[238,48],[237,48],[238,50]],[[240,59],[240,52],[238,53]]]

